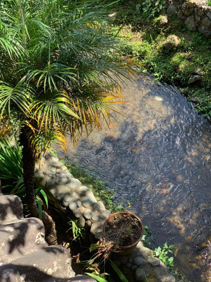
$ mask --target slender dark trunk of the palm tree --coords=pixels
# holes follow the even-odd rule
[[[23,132],[20,134],[20,144],[23,146],[23,182],[26,191],[26,199],[33,217],[38,217],[38,207],[35,197],[35,180],[34,180],[34,169],[35,169],[35,158],[31,147],[28,144],[28,139]]]

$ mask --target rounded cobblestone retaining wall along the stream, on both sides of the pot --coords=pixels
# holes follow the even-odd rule
[[[67,213],[77,224],[90,234],[90,241],[96,242],[103,235],[103,224],[111,212],[97,201],[90,189],[73,178],[57,157],[43,157],[41,165],[36,165],[37,187],[42,187],[55,207]],[[114,255],[115,264],[123,271],[128,281],[175,282],[165,265],[153,257],[152,251],[139,242],[133,253],[127,256]]]

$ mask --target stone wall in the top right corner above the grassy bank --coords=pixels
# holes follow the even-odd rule
[[[189,30],[211,38],[211,6],[204,0],[173,0],[166,2],[161,14],[174,15],[184,21]]]

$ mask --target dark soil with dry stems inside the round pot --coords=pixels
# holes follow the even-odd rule
[[[132,215],[115,216],[108,222],[105,238],[115,246],[130,246],[142,235],[141,227]]]

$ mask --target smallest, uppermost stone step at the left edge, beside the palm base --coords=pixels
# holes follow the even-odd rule
[[[0,225],[23,219],[23,204],[15,195],[0,196]]]

